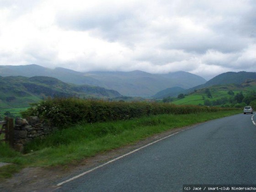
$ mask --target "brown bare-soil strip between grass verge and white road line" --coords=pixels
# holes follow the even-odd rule
[[[86,158],[79,163],[62,166],[62,167],[27,167],[16,173],[12,178],[0,181],[1,192],[53,192],[56,190],[57,183],[65,181],[72,176],[79,175],[98,165],[115,159],[134,149],[138,149],[146,144],[152,143],[158,139],[164,138],[172,133],[191,128],[176,128],[164,133],[156,134],[150,138],[139,141],[135,144],[114,149],[105,153]]]

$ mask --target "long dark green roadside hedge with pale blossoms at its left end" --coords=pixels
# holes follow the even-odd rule
[[[189,114],[227,110],[216,107],[177,106],[157,102],[117,102],[82,100],[78,98],[54,98],[33,104],[22,117],[38,116],[54,126],[79,122],[95,123],[127,120],[158,114]]]

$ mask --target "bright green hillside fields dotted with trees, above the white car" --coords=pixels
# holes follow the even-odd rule
[[[253,92],[254,91],[254,92]],[[175,98],[172,103],[176,105],[213,105],[213,106],[234,106],[238,102],[236,97],[242,93],[241,102],[249,104],[247,97],[255,96],[256,80],[246,80],[242,84],[213,85],[207,88],[192,91],[190,94],[184,95],[184,98]],[[256,99],[256,97],[255,97]],[[208,102],[210,101],[210,103]],[[207,104],[207,103],[209,104]]]

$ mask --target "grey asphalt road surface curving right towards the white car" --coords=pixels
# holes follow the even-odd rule
[[[200,124],[56,191],[169,192],[182,191],[183,184],[256,184],[256,126],[251,117],[238,114]]]

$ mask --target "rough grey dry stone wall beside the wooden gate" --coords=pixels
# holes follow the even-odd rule
[[[35,138],[43,138],[52,133],[56,128],[49,127],[38,117],[16,118],[14,126],[14,149],[23,151],[24,146]]]

